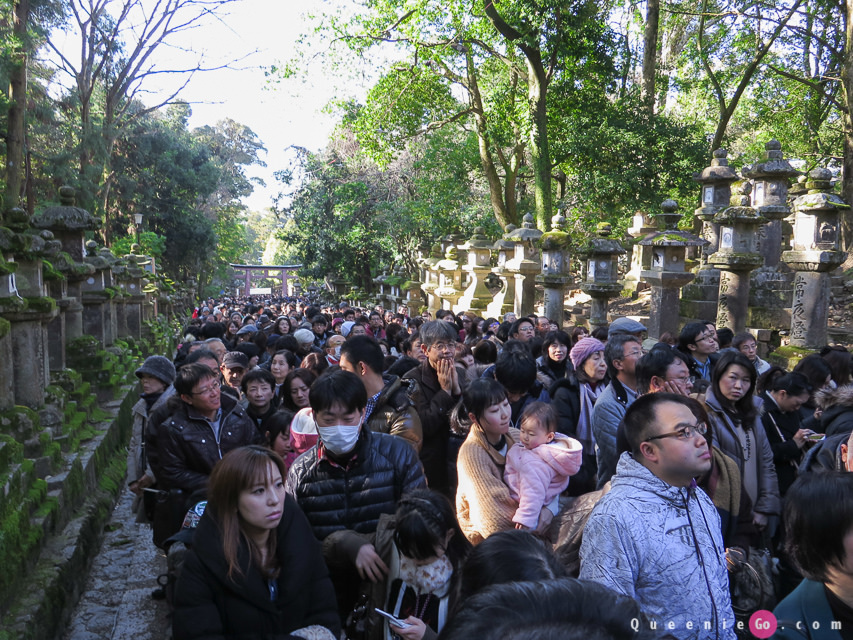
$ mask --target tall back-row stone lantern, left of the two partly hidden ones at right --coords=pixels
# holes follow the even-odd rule
[[[738,179],[729,166],[725,149],[716,149],[711,165],[693,179],[701,186],[699,207],[694,215],[702,221],[702,237],[708,245],[702,250],[702,261],[696,280],[684,287],[681,315],[687,318],[713,318],[717,313],[717,296],[720,288],[720,271],[708,262],[708,257],[719,248],[719,225],[714,216],[731,204],[732,183]]]

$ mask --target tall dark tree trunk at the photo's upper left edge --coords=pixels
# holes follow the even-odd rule
[[[27,117],[27,23],[30,17],[30,1],[15,3],[14,38],[15,53],[13,68],[9,74],[11,106],[9,107],[8,132],[6,134],[6,193],[5,209],[21,203],[21,187],[24,179],[24,126]]]

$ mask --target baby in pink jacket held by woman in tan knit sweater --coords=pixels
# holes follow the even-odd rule
[[[506,454],[504,482],[518,500],[515,528],[535,529],[543,507],[556,502],[580,469],[583,445],[557,433],[554,410],[544,402],[530,403],[519,422],[521,442]]]

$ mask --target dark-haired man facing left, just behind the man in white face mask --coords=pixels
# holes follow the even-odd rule
[[[367,392],[364,421],[371,431],[390,433],[421,449],[421,419],[409,398],[411,380],[382,375],[382,350],[368,336],[356,336],[341,347],[340,366],[358,376]]]

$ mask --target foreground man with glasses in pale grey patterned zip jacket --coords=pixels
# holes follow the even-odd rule
[[[670,393],[628,408],[630,452],[586,524],[580,577],[635,598],[666,637],[734,640],[720,519],[695,480],[711,467],[697,415],[695,400]]]

